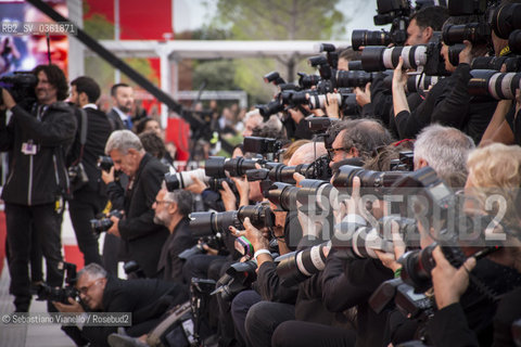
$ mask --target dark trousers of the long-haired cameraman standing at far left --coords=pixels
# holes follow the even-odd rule
[[[61,286],[63,274],[58,269],[62,258],[61,215],[54,211],[54,204],[23,206],[5,204],[8,227],[10,293],[14,295],[17,311],[26,311],[30,305],[30,239],[36,236],[47,261],[47,283]]]

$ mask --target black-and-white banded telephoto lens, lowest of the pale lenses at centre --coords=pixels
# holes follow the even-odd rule
[[[327,253],[331,242],[292,252],[275,259],[278,262],[277,274],[280,283],[285,287],[297,285],[302,281],[326,268]]]

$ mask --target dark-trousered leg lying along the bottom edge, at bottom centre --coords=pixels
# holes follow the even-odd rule
[[[356,332],[339,326],[318,323],[287,321],[275,330],[271,337],[272,347],[353,347]]]

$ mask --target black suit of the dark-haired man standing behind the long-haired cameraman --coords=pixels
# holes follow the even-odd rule
[[[71,221],[78,246],[84,254],[85,265],[98,262],[101,265],[101,257],[98,252],[98,240],[96,239],[89,221],[101,213],[106,204],[104,183],[101,182],[101,171],[98,169],[98,157],[104,155],[105,143],[112,132],[112,126],[106,115],[96,108],[85,108],[87,113],[87,141],[84,146],[81,164],[89,177],[85,187],[74,192],[74,197],[68,202]],[[81,127],[81,116],[78,116],[78,127]],[[69,163],[79,158],[81,144],[79,141],[73,145],[69,154]]]

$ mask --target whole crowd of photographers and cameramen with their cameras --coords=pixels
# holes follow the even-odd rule
[[[66,203],[85,267],[49,312],[132,313],[64,329],[78,346],[520,346],[521,95],[468,87],[487,49],[512,53],[495,30],[456,54],[436,38],[483,18],[408,16],[405,47],[437,39],[446,73],[424,90],[407,54],[367,81],[348,75],[358,52],[329,50],[310,88],[224,108],[221,139],[244,142],[191,171],[157,119],[132,118],[132,87],[114,85],[103,113],[93,79],[38,66],[36,99],[2,89],[0,106],[14,311],[63,285]]]

